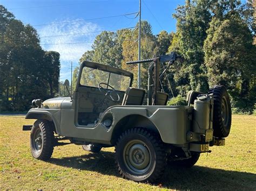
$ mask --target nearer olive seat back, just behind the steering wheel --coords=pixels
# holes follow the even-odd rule
[[[143,105],[146,91],[138,88],[127,88],[122,105]]]

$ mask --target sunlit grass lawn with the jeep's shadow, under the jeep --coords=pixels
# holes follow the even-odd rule
[[[47,161],[33,159],[29,131],[22,125],[34,120],[0,116],[0,189],[256,189],[256,116],[233,115],[226,146],[210,147],[190,168],[166,166],[160,184],[120,178],[113,148],[98,154],[82,146],[55,147]]]

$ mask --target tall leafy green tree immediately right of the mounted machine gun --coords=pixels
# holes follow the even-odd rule
[[[184,57],[183,63],[176,63],[172,72],[178,84],[179,93],[187,90],[207,91],[207,76],[204,70],[204,40],[211,20],[210,3],[204,0],[186,1],[178,6],[173,15],[177,19],[177,32],[169,52],[176,51]]]

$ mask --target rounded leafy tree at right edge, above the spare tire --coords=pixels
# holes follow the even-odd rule
[[[250,84],[256,74],[256,49],[248,25],[232,13],[224,20],[213,18],[207,33],[204,50],[209,83],[228,87],[234,102],[247,97],[253,108],[255,98],[250,91],[255,88]]]

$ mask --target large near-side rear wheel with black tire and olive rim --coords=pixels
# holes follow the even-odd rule
[[[123,178],[155,182],[166,166],[164,144],[155,133],[143,128],[129,129],[118,139],[116,163]]]

